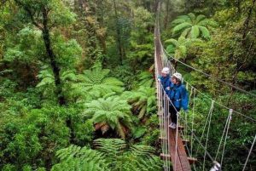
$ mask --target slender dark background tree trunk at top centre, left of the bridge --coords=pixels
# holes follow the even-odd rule
[[[120,29],[119,29],[119,16],[117,13],[115,0],[113,0],[113,8],[114,8],[114,14],[115,14],[117,46],[119,48],[119,60],[120,60],[120,65],[122,66],[123,58],[124,58],[124,54],[123,54],[124,51],[122,50],[122,45],[121,45],[121,33],[120,33]]]

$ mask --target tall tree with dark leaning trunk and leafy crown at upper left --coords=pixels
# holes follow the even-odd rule
[[[36,0],[15,0],[15,3],[24,14],[23,20],[32,23],[33,26],[36,26],[40,31],[42,31],[47,58],[54,73],[56,87],[55,94],[58,98],[59,104],[65,105],[66,101],[62,94],[61,87],[61,66],[58,65],[50,34],[56,26],[65,26],[73,21],[74,15],[60,0],[40,2]]]

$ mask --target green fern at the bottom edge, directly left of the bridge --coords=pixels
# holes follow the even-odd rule
[[[154,148],[148,145],[131,145],[129,149],[124,140],[95,140],[96,149],[107,153],[111,158],[111,170],[161,170],[160,157],[154,156]]]

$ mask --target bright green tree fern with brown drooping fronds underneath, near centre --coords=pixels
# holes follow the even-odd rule
[[[92,100],[85,104],[84,117],[90,117],[97,124],[96,129],[101,128],[104,134],[108,128],[115,130],[122,138],[125,138],[127,129],[131,128],[131,105],[117,96],[107,99]]]

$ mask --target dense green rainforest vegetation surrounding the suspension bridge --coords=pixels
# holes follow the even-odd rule
[[[154,88],[156,9],[155,0],[0,2],[1,170],[163,169]],[[251,94],[255,26],[255,0],[161,1],[166,51]],[[172,63],[203,94],[256,119],[255,97]],[[199,94],[195,101],[201,135],[211,101]],[[209,151],[218,147],[228,111],[216,106],[213,113]],[[232,117],[226,171],[241,170],[247,158],[256,130],[247,117]],[[247,170],[255,169],[254,147]]]

